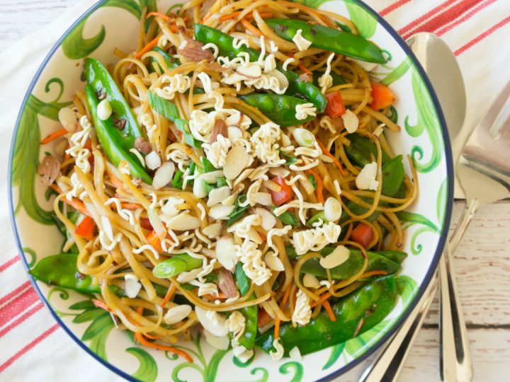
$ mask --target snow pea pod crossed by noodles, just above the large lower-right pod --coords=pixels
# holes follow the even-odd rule
[[[318,252],[327,256],[334,250],[334,246],[329,245],[327,247],[322,248]],[[287,255],[290,259],[298,258],[295,254],[295,250],[293,248],[285,248],[287,250]],[[368,267],[365,272],[370,272],[373,270],[383,270],[387,274],[397,273],[402,267],[400,263],[407,257],[407,253],[398,252],[398,251],[367,251],[368,255]],[[395,259],[395,260],[392,260]],[[402,260],[401,260],[402,259]],[[348,260],[343,262],[341,265],[337,267],[331,268],[329,272],[331,272],[331,278],[336,280],[345,280],[349,277],[352,277],[356,274],[361,267],[363,267],[363,255],[360,250],[349,249],[349,257]],[[326,270],[324,267],[320,265],[319,259],[316,257],[308,260],[301,267],[301,272],[314,274],[318,277],[327,277]]]

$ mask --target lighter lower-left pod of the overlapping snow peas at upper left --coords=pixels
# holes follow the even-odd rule
[[[99,102],[96,93],[90,85],[85,86],[85,95],[92,116],[92,122],[94,122],[94,127],[96,127],[96,134],[101,144],[101,149],[103,149],[111,163],[113,163],[114,166],[118,166],[121,161],[128,162],[131,175],[134,178],[140,178],[145,183],[149,185],[152,184],[152,178],[140,165],[138,158],[133,154],[129,154],[129,149],[125,149],[125,147],[129,146],[132,137],[130,137],[130,139],[123,139],[123,136],[117,127],[115,127],[112,117],[109,117],[107,120],[101,120],[98,117],[97,108]],[[140,137],[140,135],[137,137]]]

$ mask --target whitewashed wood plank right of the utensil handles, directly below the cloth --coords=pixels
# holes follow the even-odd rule
[[[455,202],[452,226],[455,226],[463,212],[463,206],[463,202]],[[454,254],[453,262],[467,325],[509,325],[508,201],[489,204],[477,212],[457,253]],[[426,323],[437,323],[437,313],[436,299]]]

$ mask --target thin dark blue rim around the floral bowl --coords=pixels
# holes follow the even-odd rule
[[[55,318],[57,323],[59,323],[60,327],[62,329],[64,329],[64,331],[67,333],[67,335],[69,335],[69,337],[71,337],[74,340],[74,342],[76,342],[77,345],[79,345],[79,347],[81,347],[81,349],[84,349],[84,351],[86,353],[88,353],[91,357],[96,359],[96,361],[100,362],[101,364],[103,364],[103,366],[106,366],[108,369],[115,372],[119,376],[122,376],[123,378],[127,379],[128,381],[137,381],[136,378],[133,378],[129,374],[126,374],[124,371],[118,369],[118,367],[114,366],[113,364],[109,363],[108,361],[105,361],[101,357],[98,357],[97,354],[92,352],[91,349],[89,349],[89,347],[87,347],[84,344],[84,342],[82,342],[79,339],[79,337],[74,335],[74,332],[72,332],[72,330],[69,330],[69,328],[67,328],[67,325],[60,319],[59,316],[57,316],[57,313],[55,313],[53,308],[50,306],[50,303],[47,301],[45,296],[42,294],[42,291],[39,289],[38,284],[35,282],[35,279],[28,273],[28,270],[30,269],[30,267],[28,266],[28,262],[26,261],[26,258],[23,254],[23,245],[21,245],[21,240],[18,235],[18,229],[16,227],[16,218],[14,216],[14,205],[13,205],[13,195],[12,195],[13,185],[12,185],[11,171],[12,171],[12,163],[13,163],[13,155],[14,155],[14,145],[16,143],[16,136],[18,134],[18,128],[19,128],[21,116],[23,115],[23,112],[26,108],[28,97],[32,93],[33,88],[35,87],[35,84],[38,82],[40,74],[45,69],[47,62],[50,61],[50,59],[53,57],[53,54],[55,54],[55,52],[58,50],[60,45],[62,45],[62,42],[67,37],[67,35],[79,23],[81,23],[81,21],[84,21],[85,18],[90,16],[91,13],[94,13],[94,11],[96,11],[98,8],[101,8],[101,6],[103,6],[103,3],[105,3],[106,1],[108,1],[108,0],[97,1],[96,4],[94,4],[87,11],[85,11],[77,19],[77,21],[74,21],[74,23],[64,32],[62,37],[60,37],[59,40],[57,40],[57,42],[52,47],[50,52],[48,52],[47,56],[42,61],[38,70],[36,71],[33,80],[30,82],[30,86],[28,86],[28,91],[26,93],[25,98],[23,99],[23,103],[21,104],[21,108],[18,113],[18,118],[16,120],[16,127],[14,128],[13,138],[11,141],[11,152],[9,154],[9,163],[8,163],[8,184],[7,184],[7,187],[8,187],[9,211],[11,213],[11,225],[13,228],[14,236],[16,238],[16,244],[18,245],[19,256],[21,257],[21,261],[23,262],[23,267],[25,267],[25,270],[28,274],[30,283],[32,284],[32,286],[35,289],[36,293],[38,294],[39,298],[42,300],[42,302],[48,308],[48,310],[50,311],[53,318]],[[349,0],[344,0],[344,1],[349,1]],[[446,199],[447,199],[446,200],[446,214],[445,214],[445,219],[443,221],[443,230],[441,231],[441,236],[438,241],[436,253],[434,253],[434,255],[433,255],[431,267],[429,267],[429,271],[426,273],[424,280],[421,283],[419,290],[416,293],[416,296],[414,297],[414,300],[412,301],[412,303],[410,303],[409,306],[407,307],[407,310],[404,311],[404,313],[402,313],[399,316],[399,318],[394,323],[392,328],[390,330],[388,330],[388,332],[385,335],[380,337],[380,339],[377,340],[377,342],[375,342],[375,344],[373,346],[371,346],[366,352],[361,354],[358,358],[353,359],[353,361],[349,362],[345,366],[342,366],[340,369],[338,369],[338,370],[332,372],[331,374],[329,374],[328,376],[325,376],[325,377],[321,378],[320,380],[318,380],[320,382],[332,381],[334,378],[340,376],[341,374],[346,373],[347,371],[351,370],[354,366],[360,364],[362,361],[364,361],[365,359],[370,357],[370,355],[372,355],[377,349],[379,349],[383,343],[385,343],[387,340],[389,340],[390,337],[392,337],[392,335],[394,335],[395,332],[397,332],[398,328],[402,325],[402,323],[404,323],[404,321],[407,320],[409,313],[411,313],[411,311],[414,309],[414,307],[416,306],[418,301],[421,299],[421,296],[424,294],[426,287],[429,285],[429,282],[431,281],[433,274],[436,272],[439,259],[441,257],[441,254],[443,253],[444,245],[446,243],[446,238],[448,237],[448,228],[450,227],[450,220],[451,220],[452,209],[453,209],[453,179],[454,179],[454,176],[453,176],[453,155],[451,152],[450,137],[448,135],[448,129],[446,127],[446,121],[443,116],[443,111],[441,109],[441,105],[438,102],[438,98],[436,96],[435,91],[433,90],[433,87],[429,81],[429,78],[428,78],[428,76],[426,76],[426,73],[425,73],[423,67],[419,63],[418,59],[416,59],[416,56],[414,55],[414,53],[409,49],[406,42],[404,42],[404,40],[402,40],[402,37],[400,37],[400,35],[397,33],[397,31],[392,28],[390,23],[385,21],[385,19],[382,18],[382,16],[380,16],[379,13],[377,13],[376,11],[373,10],[373,8],[371,8],[370,6],[365,4],[364,1],[362,1],[362,0],[353,0],[353,1],[357,2],[359,5],[363,6],[363,8],[365,8],[365,10],[372,13],[373,16],[375,18],[377,18],[378,23],[380,25],[382,25],[382,27],[385,28],[385,30],[387,30],[388,33],[390,33],[390,35],[395,39],[395,41],[397,41],[397,43],[402,48],[402,50],[404,50],[404,52],[409,57],[411,57],[414,66],[418,70],[421,79],[424,81],[425,86],[426,86],[427,90],[429,91],[429,94],[431,95],[434,108],[436,109],[439,122],[441,123],[441,133],[442,133],[441,137],[443,138],[445,158],[446,158],[446,175],[447,175],[447,179],[448,179],[448,183],[447,183],[448,193],[447,193],[447,197],[446,197]]]

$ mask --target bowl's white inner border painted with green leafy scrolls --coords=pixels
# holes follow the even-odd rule
[[[412,306],[420,286],[438,259],[441,234],[448,226],[451,185],[448,179],[450,154],[444,141],[441,120],[426,81],[412,57],[378,21],[375,13],[356,0],[300,0],[314,8],[340,13],[355,23],[363,37],[373,40],[388,57],[374,76],[391,86],[397,95],[402,132],[388,134],[393,149],[411,154],[419,171],[420,197],[409,211],[400,212],[404,221],[404,250],[412,253],[404,262],[398,288],[401,299],[390,316],[375,328],[345,343],[307,355],[302,361],[274,362],[263,352],[242,364],[231,352],[210,347],[200,337],[180,342],[194,362],[176,354],[144,349],[125,332],[115,330],[111,316],[96,308],[89,296],[38,283],[41,295],[75,340],[87,347],[106,366],[141,381],[310,381],[327,378],[354,360],[368,354],[386,337]],[[61,237],[51,219],[51,194],[36,175],[40,159],[52,145],[40,147],[41,137],[57,129],[60,108],[81,82],[81,59],[87,56],[112,62],[113,49],[132,51],[137,40],[142,9],[166,11],[172,0],[104,0],[91,8],[62,38],[43,64],[30,88],[18,118],[11,153],[12,211],[18,242],[28,267],[36,260],[58,253]],[[118,28],[123,25],[123,28]],[[394,33],[395,34],[395,33]]]

